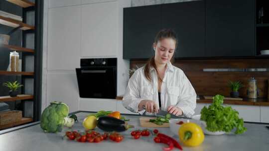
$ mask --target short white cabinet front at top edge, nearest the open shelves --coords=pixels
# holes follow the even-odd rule
[[[81,4],[81,0],[49,0],[49,8]]]

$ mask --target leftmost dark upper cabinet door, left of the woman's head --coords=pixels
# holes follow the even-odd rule
[[[124,59],[153,56],[152,44],[161,29],[160,5],[124,8]]]

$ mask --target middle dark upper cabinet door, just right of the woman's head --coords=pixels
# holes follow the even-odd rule
[[[177,33],[176,58],[204,57],[205,3],[203,0],[162,5],[162,27]]]

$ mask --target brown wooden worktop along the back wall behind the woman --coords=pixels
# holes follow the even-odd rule
[[[117,96],[117,100],[123,100],[123,96]],[[196,103],[212,103],[213,99],[204,99],[203,96],[196,100]],[[269,106],[269,100],[266,98],[248,99],[243,100],[226,100],[224,99],[223,104],[235,104],[235,105],[257,105],[257,106]]]

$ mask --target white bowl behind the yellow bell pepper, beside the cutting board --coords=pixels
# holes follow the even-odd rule
[[[200,124],[199,124],[200,121],[197,121],[197,120],[183,119],[183,118],[181,118],[181,119],[170,119],[170,120],[169,120],[169,127],[170,127],[170,130],[171,130],[175,135],[177,135],[177,136],[178,136],[178,130],[179,130],[179,128],[181,127],[181,125],[176,124],[176,123],[178,123],[178,122],[180,122],[180,121],[182,121],[182,122],[184,122],[184,123],[187,123],[187,122],[189,121],[189,122],[193,122],[193,123],[196,123],[196,124],[200,125]]]

